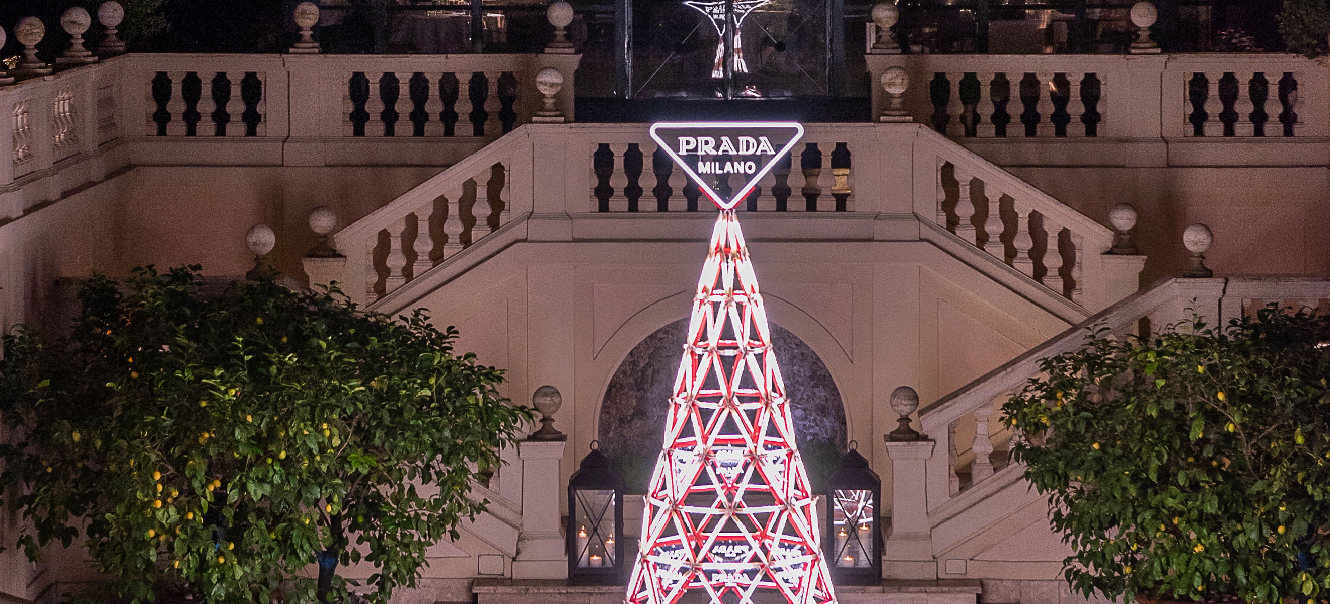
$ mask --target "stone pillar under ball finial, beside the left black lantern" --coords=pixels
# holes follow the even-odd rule
[[[517,557],[512,561],[513,579],[568,577],[568,553],[559,529],[559,492],[563,488],[559,463],[564,459],[565,444],[564,440],[517,443],[521,532],[517,533]]]

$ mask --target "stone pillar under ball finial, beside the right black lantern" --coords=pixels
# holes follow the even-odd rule
[[[936,579],[928,524],[926,463],[932,440],[887,440],[891,458],[891,535],[882,547],[883,579]]]

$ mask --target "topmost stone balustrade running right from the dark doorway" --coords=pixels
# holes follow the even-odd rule
[[[868,55],[903,108],[954,137],[1327,137],[1330,77],[1278,53]],[[874,114],[887,108],[874,86]]]

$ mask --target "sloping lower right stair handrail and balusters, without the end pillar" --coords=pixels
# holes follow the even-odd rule
[[[1013,391],[1039,375],[1044,359],[1084,346],[1089,330],[1107,329],[1112,334],[1127,335],[1138,333],[1144,323],[1145,329],[1158,331],[1188,321],[1193,313],[1206,318],[1212,326],[1226,325],[1229,319],[1249,315],[1269,302],[1325,309],[1330,305],[1330,279],[1169,279],[1119,301],[920,408],[922,432],[936,443],[936,451],[927,463],[928,511],[947,504],[962,490],[980,484],[1000,470],[1007,460],[1011,434],[996,420],[999,407]],[[971,443],[954,442],[960,423],[967,423],[966,432],[974,434]],[[967,474],[968,480],[964,480]]]

